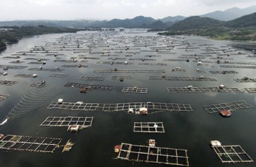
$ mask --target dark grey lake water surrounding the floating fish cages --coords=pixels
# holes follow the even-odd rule
[[[62,38],[60,38],[62,37]],[[167,41],[176,43],[190,43],[190,45],[178,45],[168,53],[157,53],[155,48],[162,51],[160,47],[166,48]],[[88,45],[94,46],[93,52],[99,53],[74,53],[74,50],[61,51],[58,55],[61,59],[70,59],[79,57],[78,55],[87,55],[87,57],[99,57],[100,59],[88,59],[81,63],[83,59],[78,59],[76,63],[54,62],[53,55],[47,53],[36,53],[36,55],[20,55],[19,61],[23,63],[9,63],[16,59],[3,58],[13,56],[18,51],[29,51],[34,46],[46,46],[46,43],[62,42],[73,43],[76,47],[78,41],[80,48],[88,49]],[[115,45],[113,45],[113,43]],[[135,44],[134,44],[135,43]],[[139,45],[139,43],[141,43]],[[235,50],[231,45],[237,45],[235,41],[213,41],[204,37],[166,37],[159,36],[156,33],[147,33],[143,29],[126,29],[125,31],[112,32],[78,32],[76,34],[50,34],[40,35],[40,37],[29,37],[19,41],[19,43],[9,45],[5,51],[0,53],[1,65],[25,65],[25,69],[9,69],[8,75],[0,75],[0,80],[8,79],[18,81],[13,86],[0,86],[0,94],[10,95],[0,102],[0,122],[9,118],[8,122],[0,126],[0,133],[39,136],[50,138],[62,138],[62,144],[71,139],[74,146],[69,152],[62,153],[62,148],[57,148],[53,154],[41,152],[25,152],[15,150],[0,150],[0,166],[166,166],[162,164],[149,164],[145,162],[130,162],[126,160],[115,159],[117,154],[113,152],[113,147],[117,144],[141,144],[146,145],[147,140],[155,139],[157,146],[166,148],[180,148],[188,150],[188,160],[190,166],[255,166],[255,163],[222,164],[214,150],[210,148],[210,140],[219,140],[224,145],[241,145],[241,147],[256,160],[255,141],[256,141],[256,114],[255,114],[255,94],[246,92],[244,88],[253,88],[255,83],[238,83],[236,78],[250,77],[255,78],[255,70],[249,68],[223,68],[216,63],[216,59],[202,59],[202,61],[212,61],[212,63],[202,63],[197,65],[194,59],[186,61],[163,61],[164,59],[178,59],[184,55],[202,55],[206,53],[206,47],[214,49]],[[248,43],[243,43],[248,44]],[[250,43],[251,44],[251,43]],[[107,46],[109,45],[109,47]],[[139,46],[138,46],[139,45]],[[145,47],[147,45],[147,47]],[[172,44],[170,44],[172,45]],[[255,45],[255,44],[251,44]],[[54,45],[52,44],[52,47]],[[129,47],[126,51],[125,48]],[[188,48],[186,48],[188,47]],[[40,47],[38,47],[40,48]],[[139,49],[135,49],[139,48]],[[109,56],[101,52],[110,49]],[[122,49],[123,53],[119,52]],[[187,49],[187,50],[186,50]],[[127,53],[131,52],[131,53]],[[133,53],[140,52],[140,53]],[[217,51],[223,53],[222,51]],[[236,55],[241,52],[242,54]],[[249,62],[256,63],[252,51],[239,49],[239,51],[229,52],[232,58],[231,62]],[[235,53],[235,54],[233,54]],[[126,57],[125,55],[131,55]],[[106,53],[104,55],[107,55]],[[152,55],[152,57],[145,57]],[[153,55],[161,55],[154,57]],[[208,54],[207,54],[208,55]],[[210,54],[217,57],[217,53]],[[31,61],[25,58],[49,59],[46,65],[28,64]],[[110,60],[109,57],[125,58]],[[129,60],[137,59],[155,59],[155,61]],[[99,61],[124,62],[128,61],[132,65],[97,63]],[[224,61],[224,60],[220,60]],[[62,65],[88,65],[88,67],[61,67]],[[139,65],[139,63],[167,63],[167,65]],[[230,64],[229,64],[230,65]],[[237,64],[239,65],[239,64]],[[52,68],[59,67],[64,69],[61,72],[52,71],[29,71],[30,67]],[[246,65],[245,65],[246,66]],[[247,65],[255,66],[255,65]],[[149,80],[149,76],[161,77],[163,73],[94,73],[94,69],[154,69],[166,71],[166,76],[178,77],[214,77],[217,81],[165,81]],[[186,72],[173,72],[174,67],[186,69]],[[197,73],[200,68],[206,73]],[[235,74],[213,74],[209,71],[215,70],[233,70]],[[0,69],[0,72],[4,72]],[[38,77],[14,77],[18,73],[37,73]],[[66,77],[49,77],[52,73],[66,73]],[[131,75],[132,79],[119,80],[111,79],[113,75]],[[82,76],[105,77],[104,81],[82,81]],[[45,80],[46,86],[43,88],[33,88],[29,85],[35,81]],[[86,94],[80,94],[77,88],[64,87],[68,82],[90,83],[114,86],[113,91],[94,90]],[[192,85],[193,87],[218,87],[224,84],[228,88],[239,88],[243,93],[168,93],[166,88],[178,88]],[[147,88],[147,94],[126,94],[121,90],[124,87]],[[71,110],[50,110],[47,107],[51,102],[56,102],[63,98],[65,102],[84,103],[124,103],[124,102],[162,102],[174,104],[190,104],[193,112],[159,112],[147,116],[131,115],[127,112],[82,112]],[[222,118],[219,114],[208,114],[203,106],[210,104],[221,104],[245,100],[253,108],[241,109],[233,112],[231,118]],[[43,127],[40,126],[48,116],[93,116],[92,127],[84,128],[77,134],[66,132],[66,127]],[[163,122],[164,134],[148,134],[133,132],[134,122]]]

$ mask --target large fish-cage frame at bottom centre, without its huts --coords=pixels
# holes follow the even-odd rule
[[[150,162],[177,166],[189,166],[188,150],[121,144],[117,158],[134,162]]]

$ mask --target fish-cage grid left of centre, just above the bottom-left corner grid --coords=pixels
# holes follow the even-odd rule
[[[82,128],[92,126],[93,117],[48,117],[40,126],[73,126]]]

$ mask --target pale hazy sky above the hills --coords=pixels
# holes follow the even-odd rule
[[[231,7],[256,5],[255,0],[0,0],[0,21],[24,19],[126,19],[138,15],[202,15]]]

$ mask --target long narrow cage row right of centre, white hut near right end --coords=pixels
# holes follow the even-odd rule
[[[206,92],[233,92],[243,93],[238,88],[198,87],[198,88],[167,88],[169,93],[206,93]]]

